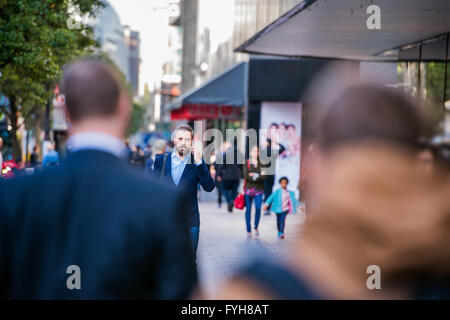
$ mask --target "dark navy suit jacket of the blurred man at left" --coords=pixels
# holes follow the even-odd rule
[[[0,297],[185,299],[195,285],[183,197],[84,150],[0,185]],[[68,266],[81,270],[69,290]]]

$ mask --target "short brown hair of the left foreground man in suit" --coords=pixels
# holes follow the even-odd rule
[[[116,71],[106,62],[93,58],[69,65],[61,89],[73,121],[114,114],[123,92]]]

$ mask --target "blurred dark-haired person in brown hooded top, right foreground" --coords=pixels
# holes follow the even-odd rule
[[[417,161],[431,160],[430,153],[417,156],[422,121],[413,102],[387,87],[351,87],[328,109],[320,127],[322,155],[308,162],[311,218],[299,249],[307,263],[320,257],[313,268],[321,290],[340,298],[386,298],[398,294],[393,288],[450,275],[450,184],[447,175],[430,174]],[[377,293],[367,289],[372,264],[384,279]]]

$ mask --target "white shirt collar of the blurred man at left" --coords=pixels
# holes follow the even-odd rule
[[[67,140],[67,150],[70,152],[86,149],[105,151],[121,157],[125,144],[117,137],[97,131],[80,132]]]

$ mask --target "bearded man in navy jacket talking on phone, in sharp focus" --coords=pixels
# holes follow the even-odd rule
[[[193,146],[193,138],[194,131],[189,125],[178,126],[172,133],[175,150],[155,158],[153,176],[169,185],[177,186],[185,193],[187,219],[195,258],[200,233],[197,187],[200,184],[205,191],[211,192],[215,184],[208,166],[202,160],[201,151]]]

